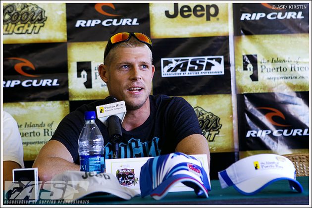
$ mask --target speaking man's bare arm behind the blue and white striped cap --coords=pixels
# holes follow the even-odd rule
[[[175,152],[181,152],[187,155],[206,154],[208,159],[208,167],[210,167],[210,152],[208,142],[201,134],[192,134],[182,139],[175,148]]]

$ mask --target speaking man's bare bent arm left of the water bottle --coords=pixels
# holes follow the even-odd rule
[[[67,148],[56,140],[50,140],[41,148],[33,167],[38,167],[38,176],[43,182],[65,170],[80,170]]]

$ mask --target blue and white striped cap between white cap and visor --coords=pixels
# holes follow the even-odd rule
[[[182,182],[194,189],[197,196],[208,198],[210,188],[200,160],[183,153],[171,153],[149,159],[140,173],[141,197],[151,195],[155,200],[165,197],[174,184]]]

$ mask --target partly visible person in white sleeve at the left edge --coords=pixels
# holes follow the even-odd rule
[[[3,110],[3,189],[4,181],[12,181],[12,170],[24,168],[22,138],[16,120]]]

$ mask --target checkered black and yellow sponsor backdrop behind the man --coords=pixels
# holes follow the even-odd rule
[[[309,3],[1,6],[3,110],[24,160],[66,114],[108,96],[98,66],[107,39],[124,31],[151,37],[152,94],[194,107],[212,174],[253,154],[309,152]]]

